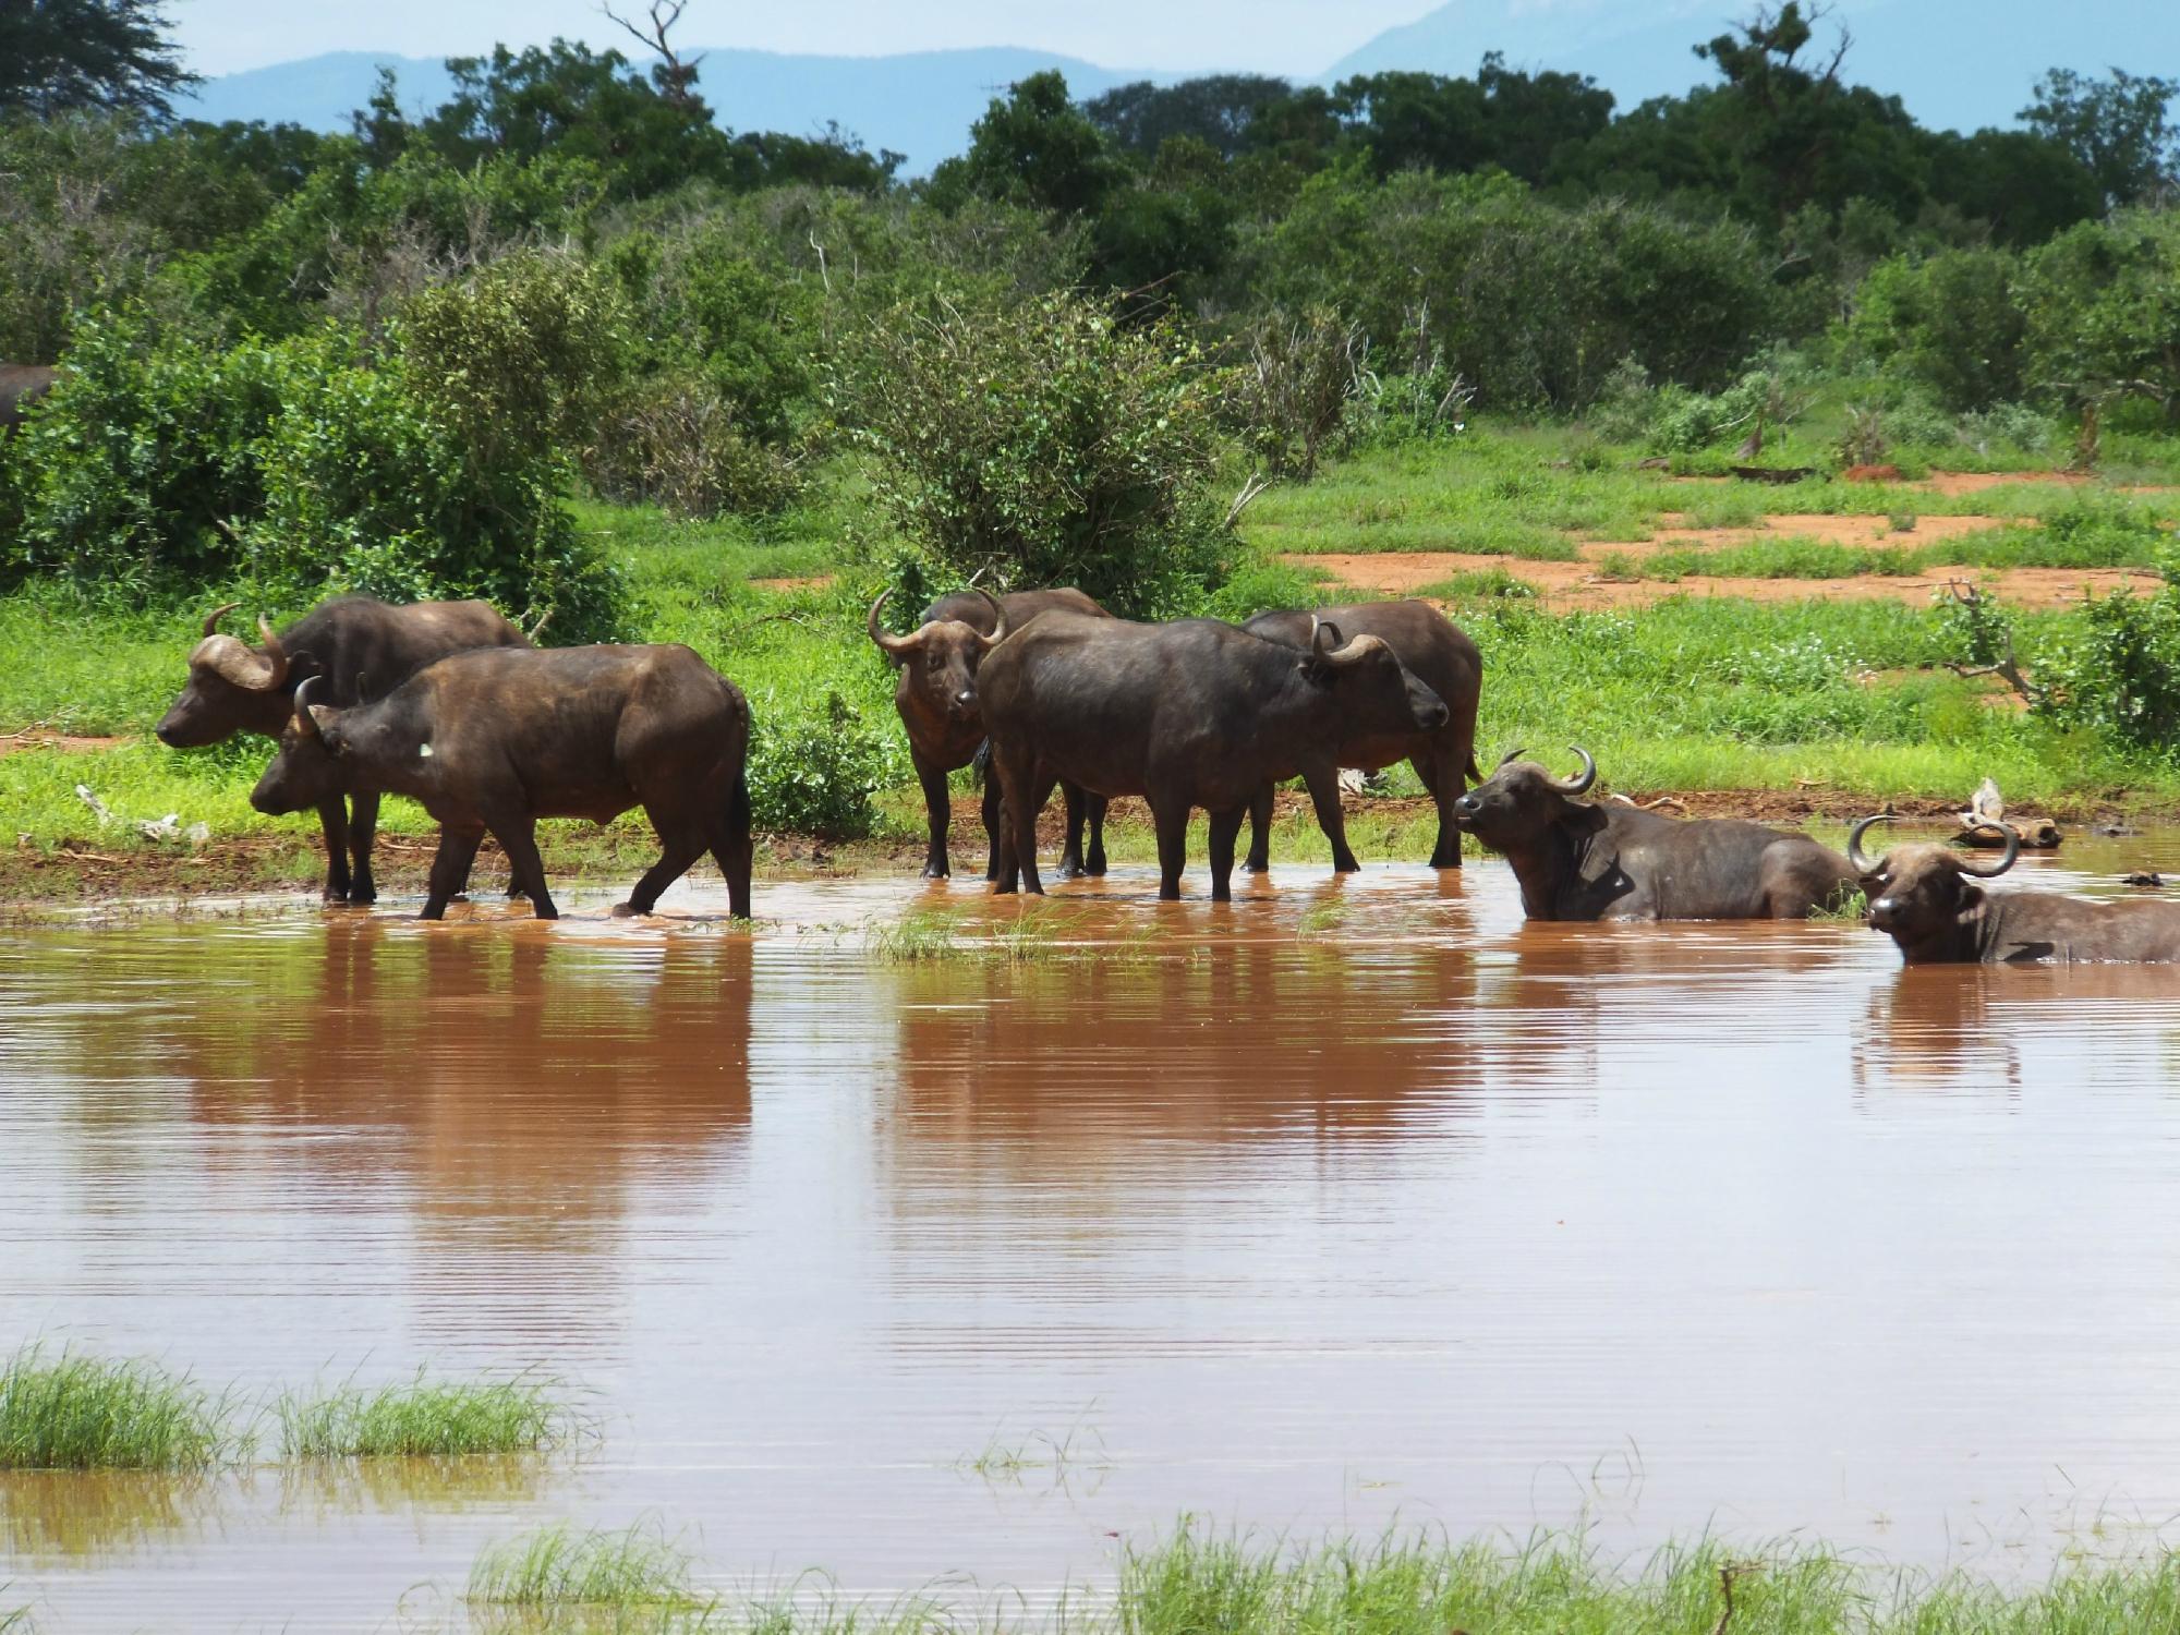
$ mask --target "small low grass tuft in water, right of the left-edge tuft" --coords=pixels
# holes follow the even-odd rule
[[[288,1458],[460,1458],[541,1454],[582,1434],[582,1419],[541,1380],[427,1380],[272,1404]]]

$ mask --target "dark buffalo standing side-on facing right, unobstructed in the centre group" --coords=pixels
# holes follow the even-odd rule
[[[1249,800],[1301,776],[1341,846],[1339,746],[1434,732],[1445,704],[1378,637],[1317,621],[1301,652],[1216,619],[1127,623],[1046,613],[983,661],[983,724],[1007,804],[998,889],[1038,881],[1038,809],[1059,778],[1144,796],[1158,828],[1158,896],[1182,894],[1188,813],[1212,815],[1212,900],[1225,903]]]

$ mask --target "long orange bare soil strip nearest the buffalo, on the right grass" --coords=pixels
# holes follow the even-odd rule
[[[1639,552],[1639,545],[1600,545]],[[1650,547],[1655,549],[1655,545]],[[2163,580],[2152,569],[2075,569],[2017,567],[2003,573],[1958,569],[1953,576],[1934,569],[1912,578],[1862,573],[1851,580],[1737,580],[1713,573],[1687,573],[1681,580],[1609,580],[1598,576],[1594,560],[1517,562],[1506,556],[1465,556],[1458,552],[1402,552],[1384,556],[1286,556],[1295,567],[1315,567],[1341,584],[1380,595],[1413,595],[1424,586],[1450,580],[1454,573],[1504,571],[1537,591],[1539,606],[1552,613],[1587,613],[1600,608],[1648,608],[1674,595],[1731,595],[1748,602],[1905,602],[1925,606],[1947,578],[1975,578],[1990,584],[2001,602],[2014,608],[2067,608],[2084,595],[2106,595],[2119,589],[2152,591]]]

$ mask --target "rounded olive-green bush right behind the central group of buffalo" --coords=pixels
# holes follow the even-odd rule
[[[1225,573],[1216,386],[1171,325],[1066,294],[933,296],[865,336],[839,392],[874,497],[957,582],[1077,584],[1140,615]]]

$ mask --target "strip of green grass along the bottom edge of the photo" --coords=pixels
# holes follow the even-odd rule
[[[1184,1522],[1125,1546],[1112,1591],[1070,1589],[1049,1611],[1001,1596],[857,1602],[807,1576],[785,1591],[700,1600],[689,1561],[656,1533],[597,1578],[573,1557],[630,1535],[547,1530],[530,1576],[471,1581],[480,1609],[610,1609],[613,1628],[713,1635],[2141,1635],[2180,1628],[2180,1554],[2071,1561],[2045,1583],[1931,1576],[1822,1543],[1720,1539],[1615,1559],[1587,1535],[1454,1543],[1428,1533],[1293,1543]],[[661,1561],[656,1550],[665,1548]],[[517,1600],[512,1594],[523,1591]],[[480,1594],[491,1591],[491,1594]],[[643,1613],[663,1613],[656,1622]],[[685,1613],[676,1618],[676,1613]],[[560,1626],[560,1624],[554,1624]],[[582,1624],[604,1626],[604,1624]]]

